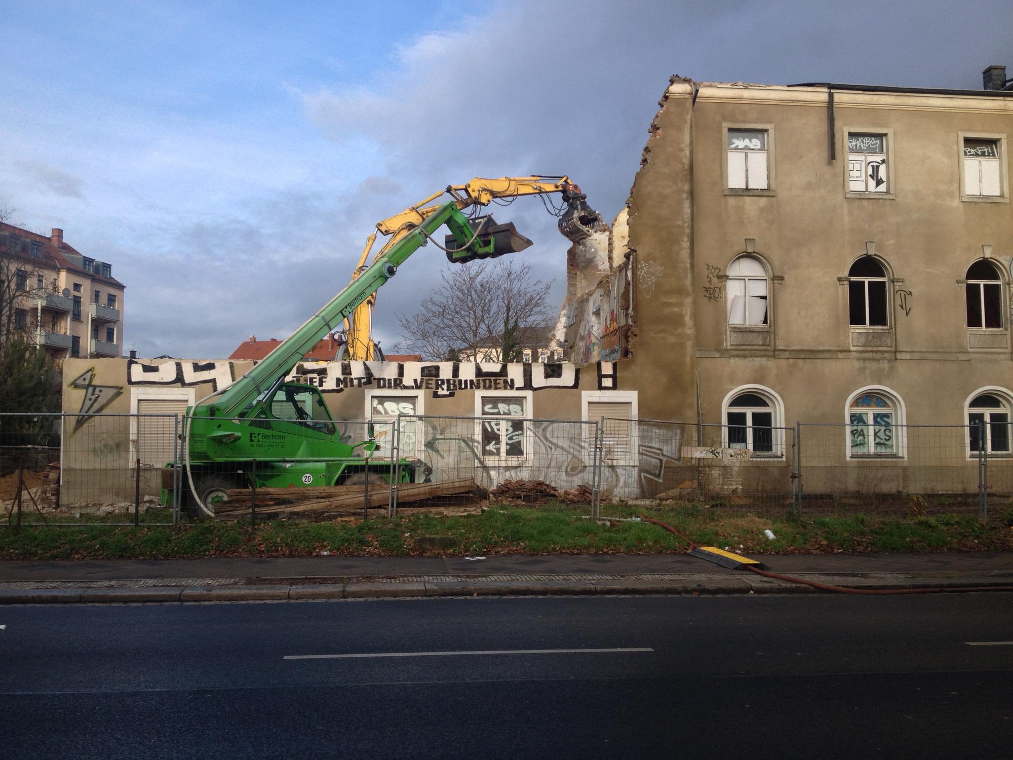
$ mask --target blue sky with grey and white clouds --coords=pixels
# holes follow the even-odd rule
[[[0,209],[109,261],[124,354],[286,337],[377,221],[473,176],[567,174],[611,220],[673,74],[980,89],[1013,70],[1009,0],[3,0]],[[508,218],[565,293],[537,199]],[[500,218],[502,217],[502,218]],[[391,352],[450,265],[378,293]]]

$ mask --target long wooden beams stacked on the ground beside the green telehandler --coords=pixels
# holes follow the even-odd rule
[[[463,477],[438,483],[400,483],[397,503],[411,504],[437,497],[468,493],[478,490],[473,478]],[[257,488],[257,515],[289,515],[301,512],[350,513],[364,506],[386,507],[390,499],[388,483],[370,483],[369,496],[362,485],[321,485],[301,488]],[[228,501],[220,502],[215,517],[224,520],[243,517],[252,508],[249,488],[233,488]]]

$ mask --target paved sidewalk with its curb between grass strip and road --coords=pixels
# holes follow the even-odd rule
[[[1013,553],[755,558],[775,573],[851,588],[1013,587]],[[761,593],[826,592],[728,569],[688,554],[0,562],[0,604]]]

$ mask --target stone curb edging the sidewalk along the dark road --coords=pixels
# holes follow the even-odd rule
[[[1013,578],[995,575],[973,577],[927,577],[910,576],[898,578],[898,574],[886,576],[864,575],[856,578],[831,576],[827,574],[799,574],[801,577],[817,576],[819,580],[837,586],[853,589],[924,589],[944,588],[959,591],[978,587],[1013,586]],[[183,602],[254,602],[254,601],[309,601],[333,599],[403,599],[418,597],[478,597],[478,596],[551,596],[551,595],[698,595],[713,594],[823,594],[819,589],[802,584],[788,583],[773,579],[744,574],[715,574],[713,577],[673,580],[671,577],[638,576],[631,579],[595,577],[579,580],[538,580],[502,581],[460,578],[446,581],[430,580],[387,580],[335,578],[333,583],[283,584],[274,586],[242,585],[244,579],[236,579],[235,585],[227,586],[172,586],[165,580],[159,586],[145,588],[104,587],[104,588],[0,588],[0,605],[9,604],[78,604],[78,603],[183,603]],[[123,581],[129,584],[130,581]]]

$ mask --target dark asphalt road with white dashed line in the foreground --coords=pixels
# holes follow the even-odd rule
[[[0,754],[1013,757],[1011,623],[1011,594],[5,607]]]

